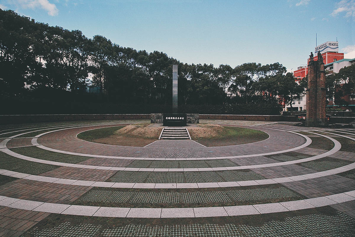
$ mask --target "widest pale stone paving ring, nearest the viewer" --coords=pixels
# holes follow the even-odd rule
[[[258,215],[275,212],[295,211],[345,203],[352,200],[355,200],[355,190],[345,193],[322,196],[319,198],[309,198],[297,201],[205,208],[113,208],[103,206],[44,203],[40,201],[9,198],[7,196],[0,196],[0,205],[22,210],[32,210],[66,215],[127,218],[188,218]]]

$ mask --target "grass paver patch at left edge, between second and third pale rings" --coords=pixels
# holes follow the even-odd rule
[[[1,169],[8,169],[10,171],[34,175],[42,174],[44,172],[60,167],[55,165],[48,165],[33,161],[22,160],[20,158],[7,155],[4,152],[0,152],[0,164]]]

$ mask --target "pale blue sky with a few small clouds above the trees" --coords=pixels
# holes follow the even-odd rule
[[[355,58],[355,0],[0,0],[0,8],[189,64],[279,62],[295,70],[316,33],[318,44],[338,37],[339,52]]]

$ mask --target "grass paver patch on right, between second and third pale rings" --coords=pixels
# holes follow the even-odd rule
[[[346,161],[342,159],[337,159],[333,157],[323,157],[314,161],[307,161],[298,163],[296,165],[300,165],[309,169],[313,169],[315,171],[327,171],[329,169],[335,169],[342,166],[349,165],[353,162]]]

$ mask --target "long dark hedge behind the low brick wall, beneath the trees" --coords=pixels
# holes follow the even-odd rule
[[[279,115],[279,104],[179,105],[179,113]],[[1,114],[150,114],[171,113],[171,105],[116,104],[43,99],[3,99]]]

